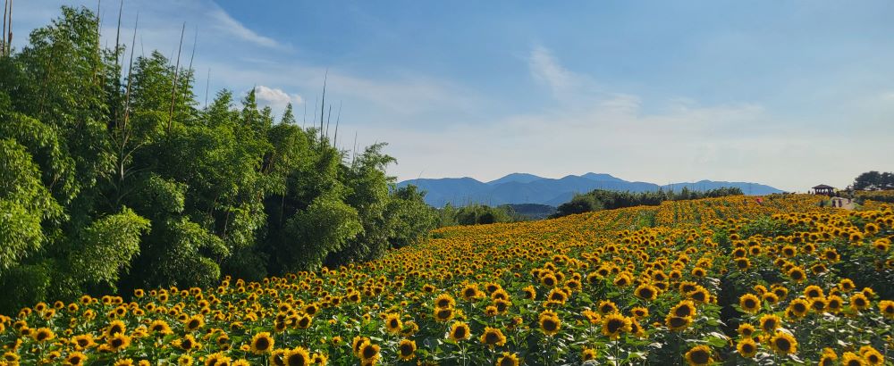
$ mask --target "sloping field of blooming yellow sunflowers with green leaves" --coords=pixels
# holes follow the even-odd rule
[[[451,227],[373,262],[34,304],[0,364],[892,364],[894,212],[745,196]]]

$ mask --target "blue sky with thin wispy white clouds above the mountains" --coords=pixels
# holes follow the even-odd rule
[[[97,6],[16,2],[16,45],[61,4]],[[112,42],[117,6],[101,4]],[[186,21],[212,93],[257,87],[299,120],[328,70],[340,144],[387,141],[399,179],[596,171],[803,191],[894,171],[890,1],[128,0],[122,37],[137,12],[138,55],[173,54]]]

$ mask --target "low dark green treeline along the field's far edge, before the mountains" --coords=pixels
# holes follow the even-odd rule
[[[664,201],[722,197],[725,195],[743,195],[743,193],[742,189],[738,187],[720,187],[706,191],[690,190],[688,187],[683,187],[679,192],[665,191],[659,188],[657,191],[641,193],[595,189],[583,195],[575,195],[571,201],[559,205],[552,217],[557,218],[575,213],[612,210],[639,205],[656,206]]]

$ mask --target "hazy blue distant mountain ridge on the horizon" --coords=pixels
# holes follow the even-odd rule
[[[415,185],[427,192],[426,203],[435,207],[444,204],[548,204],[558,206],[571,200],[578,193],[594,189],[616,191],[647,192],[659,188],[679,191],[683,187],[704,191],[719,187],[738,187],[746,195],[769,195],[782,193],[780,189],[759,183],[725,182],[699,180],[668,185],[636,182],[620,179],[605,173],[586,173],[580,176],[568,175],[560,179],[538,177],[534,174],[511,173],[500,179],[482,182],[468,177],[442,179],[409,179],[398,183],[398,187]]]

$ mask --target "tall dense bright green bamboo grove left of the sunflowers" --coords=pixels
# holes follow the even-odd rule
[[[0,313],[368,260],[437,224],[384,144],[340,150],[254,92],[199,107],[186,62],[127,48],[63,7],[0,57]]]

